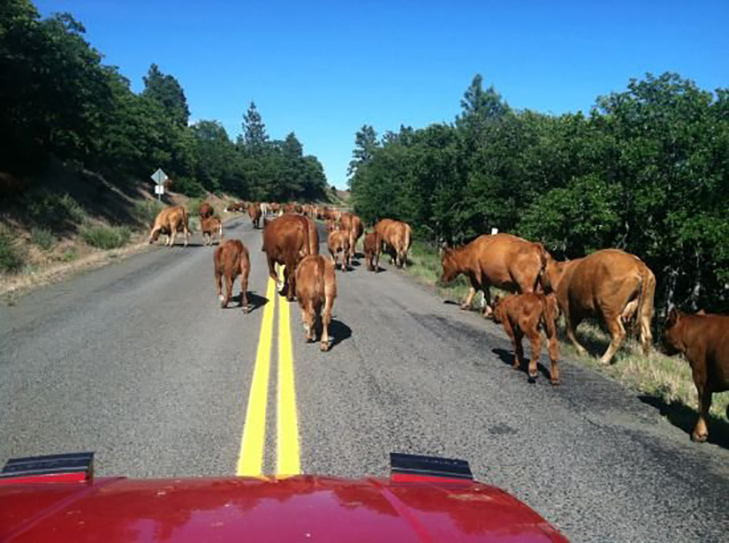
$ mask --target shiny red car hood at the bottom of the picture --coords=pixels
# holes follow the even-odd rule
[[[286,479],[99,478],[0,486],[0,541],[566,541],[482,485]]]

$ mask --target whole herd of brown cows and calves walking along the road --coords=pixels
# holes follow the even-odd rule
[[[357,215],[325,206],[240,202],[226,211],[247,212],[253,227],[263,228],[262,250],[266,253],[269,275],[281,294],[285,293],[289,301],[298,301],[307,341],[315,341],[321,322],[322,351],[330,347],[329,324],[337,296],[335,268],[344,271],[352,266],[359,239],[364,235],[368,270],[379,270],[383,251],[390,255],[391,263],[407,266],[412,231],[402,221],[382,219],[371,232],[365,233]],[[209,204],[204,203],[199,214],[205,244],[212,245],[216,234],[219,238],[213,258],[222,306],[227,306],[233,283],[240,275],[241,305],[248,312],[248,250],[240,240],[222,240],[222,221],[214,216]],[[326,223],[331,258],[319,255],[315,220]],[[188,214],[182,206],[167,208],[158,215],[149,242],[165,234],[166,244],[171,246],[177,232],[184,234],[187,245]],[[283,266],[283,280],[277,275],[277,264]],[[600,359],[602,363],[613,360],[627,335],[626,325],[637,330],[646,355],[651,349],[656,279],[635,255],[619,249],[603,249],[583,258],[558,262],[541,243],[499,233],[482,235],[461,247],[444,246],[441,264],[442,283],[449,283],[459,275],[466,276],[470,282],[462,309],[470,309],[476,293],[483,293],[484,316],[502,323],[512,340],[515,368],[521,365],[523,337],[530,340],[530,380],[537,376],[541,331],[544,331],[549,346],[551,383],[560,382],[556,332],[559,314],[564,316],[567,337],[582,354],[586,350],[577,340],[577,326],[587,318],[602,321],[611,337]],[[492,300],[492,286],[512,294]],[[712,394],[729,390],[729,316],[703,312],[689,315],[672,310],[663,333],[663,350],[667,354],[684,354],[691,365],[699,396],[699,419],[692,438],[705,441]]]

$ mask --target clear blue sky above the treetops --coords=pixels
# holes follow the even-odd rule
[[[729,0],[559,2],[42,0],[71,12],[140,90],[153,62],[191,117],[234,138],[256,102],[346,186],[354,134],[452,121],[476,73],[512,107],[587,111],[645,72],[729,87]]]

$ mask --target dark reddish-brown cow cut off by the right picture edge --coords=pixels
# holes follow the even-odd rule
[[[729,316],[687,315],[673,309],[663,332],[663,346],[669,355],[683,354],[691,365],[699,394],[699,420],[691,439],[706,441],[711,396],[714,392],[729,390]]]

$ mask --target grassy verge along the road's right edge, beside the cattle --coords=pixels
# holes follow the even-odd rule
[[[468,293],[468,283],[464,277],[459,277],[448,286],[437,284],[441,265],[440,255],[435,248],[414,242],[410,261],[407,271],[418,282],[434,287],[438,294],[453,301],[465,298]],[[578,337],[588,351],[597,356],[605,351],[609,343],[608,335],[593,323],[581,324]],[[528,346],[525,348],[528,352]],[[666,411],[686,419],[679,421],[682,426],[690,427],[695,422],[698,401],[696,387],[691,378],[691,368],[682,357],[668,357],[657,351],[645,357],[638,342],[629,340],[618,351],[615,363],[604,366],[598,362],[596,356],[578,355],[571,343],[566,341],[561,342],[560,349],[563,356],[578,360],[630,386],[643,396],[656,400],[649,400],[649,403],[662,406]],[[693,413],[687,412],[686,408]],[[729,392],[714,394],[711,414],[726,422],[727,408],[729,408]]]

